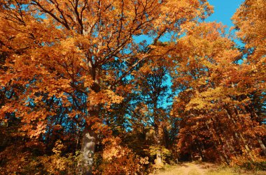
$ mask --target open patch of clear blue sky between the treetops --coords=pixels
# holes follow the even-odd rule
[[[214,6],[214,14],[207,18],[207,22],[222,22],[230,28],[233,26],[230,19],[243,1],[244,0],[209,0],[209,3]]]

